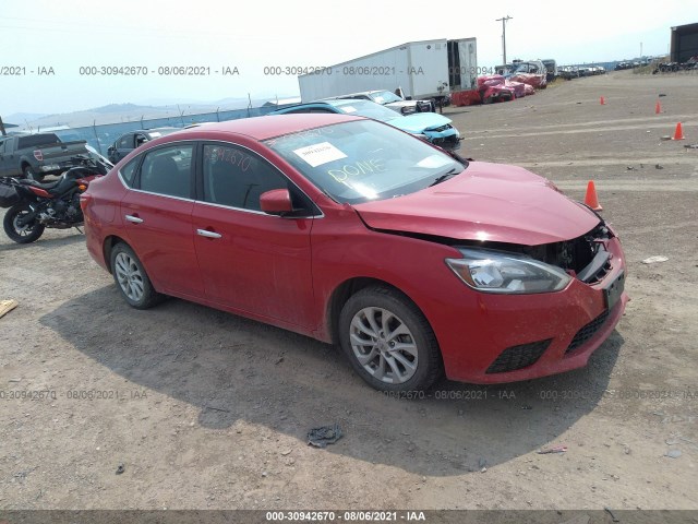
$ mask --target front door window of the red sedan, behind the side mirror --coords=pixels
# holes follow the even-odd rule
[[[257,154],[234,145],[206,144],[204,200],[212,204],[261,211],[260,196],[291,189],[289,180]]]

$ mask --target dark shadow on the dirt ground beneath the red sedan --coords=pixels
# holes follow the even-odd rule
[[[602,398],[624,342],[614,332],[588,367],[556,377],[443,381],[396,398],[368,386],[330,345],[183,300],[137,311],[106,286],[40,322],[132,385],[195,406],[206,428],[244,421],[305,442],[309,429],[337,422],[345,437],[328,452],[435,476],[565,443]]]

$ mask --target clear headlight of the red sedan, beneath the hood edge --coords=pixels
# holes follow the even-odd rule
[[[484,293],[527,294],[564,289],[571,277],[559,267],[517,253],[460,249],[446,264],[468,286]]]

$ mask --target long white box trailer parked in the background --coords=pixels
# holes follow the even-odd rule
[[[320,68],[298,78],[302,102],[400,88],[407,99],[438,98],[477,87],[476,38],[409,41],[401,46]]]

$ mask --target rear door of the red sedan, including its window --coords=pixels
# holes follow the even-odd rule
[[[192,238],[194,142],[147,151],[121,201],[129,243],[159,291],[203,297]]]

